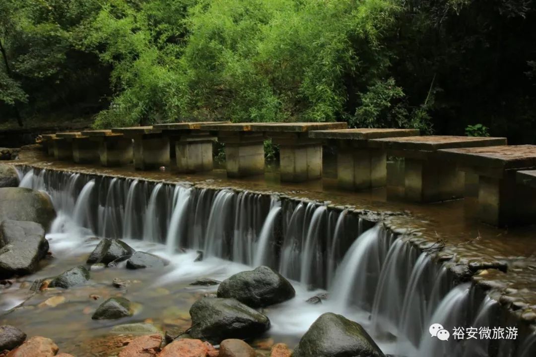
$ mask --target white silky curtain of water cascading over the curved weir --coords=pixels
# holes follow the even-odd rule
[[[331,311],[360,322],[392,355],[486,355],[484,344],[455,346],[430,338],[428,326],[432,322],[445,326],[488,323],[496,307],[493,300],[482,302],[477,316],[467,320],[463,312],[473,299],[469,285],[451,288],[448,269],[430,254],[418,255],[410,243],[381,224],[363,232],[363,220],[349,210],[275,196],[268,200],[258,193],[232,189],[51,170],[31,169],[21,176],[21,186],[46,191],[58,216],[84,226],[83,235],[138,239],[140,244],[151,242],[152,249],[160,249],[173,264],[159,284],[206,275],[226,278],[251,265],[277,267],[295,280],[297,297],[269,309],[275,333],[301,334],[321,313]],[[53,231],[60,226],[67,229],[65,224],[55,224]],[[195,249],[204,250],[203,262],[193,262]],[[310,291],[311,285],[329,287],[330,299],[319,305],[304,303],[324,292]],[[390,337],[386,338],[386,332]],[[389,341],[393,338],[395,343]],[[527,351],[533,351],[536,339],[531,341],[527,339],[516,357],[532,355]]]

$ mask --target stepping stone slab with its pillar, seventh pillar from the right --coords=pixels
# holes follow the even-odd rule
[[[152,126],[113,128],[112,133],[123,134],[134,144],[134,168],[136,170],[156,169],[169,165],[169,138],[161,130]]]

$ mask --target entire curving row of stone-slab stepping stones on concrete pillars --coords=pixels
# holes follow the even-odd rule
[[[347,128],[346,123],[192,122],[43,135],[57,160],[136,170],[210,171],[212,145],[225,144],[227,176],[264,173],[264,141],[280,148],[282,182],[322,177],[322,147],[337,147],[338,185],[387,186],[388,199],[439,202],[478,196],[482,222],[508,226],[536,217],[536,146],[506,138],[420,135],[418,130]],[[388,161],[388,158],[390,160]],[[403,169],[392,166],[402,162]],[[399,167],[398,165],[397,167]]]

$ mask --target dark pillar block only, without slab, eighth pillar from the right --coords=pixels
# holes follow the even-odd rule
[[[132,139],[123,135],[97,137],[99,140],[99,156],[102,166],[124,166],[132,162]]]

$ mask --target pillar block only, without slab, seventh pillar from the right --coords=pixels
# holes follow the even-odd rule
[[[134,139],[134,167],[136,170],[157,169],[169,165],[169,138],[167,136],[138,136]]]

